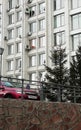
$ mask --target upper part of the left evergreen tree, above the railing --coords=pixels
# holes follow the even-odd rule
[[[65,48],[55,48],[51,51],[51,61],[53,63],[52,67],[45,65],[46,69],[46,79],[48,82],[53,82],[56,84],[66,84],[68,80],[68,69],[65,67],[67,62],[67,55]]]

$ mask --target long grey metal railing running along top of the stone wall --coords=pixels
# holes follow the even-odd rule
[[[11,77],[0,77],[1,81],[8,81],[14,87],[35,90],[40,94],[40,100],[53,102],[72,102],[81,103],[81,87],[61,85],[55,83],[47,83],[40,81],[31,81],[25,79],[17,79]]]

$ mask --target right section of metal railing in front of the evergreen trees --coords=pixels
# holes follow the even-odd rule
[[[81,87],[79,86],[43,82],[42,95],[42,99],[47,101],[81,103]]]

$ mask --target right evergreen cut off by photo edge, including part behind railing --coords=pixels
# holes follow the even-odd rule
[[[75,87],[76,102],[81,103],[81,46],[78,47],[76,55],[70,63],[69,79],[70,85]],[[71,94],[71,97],[73,95]]]

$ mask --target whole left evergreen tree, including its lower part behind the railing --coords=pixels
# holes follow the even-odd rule
[[[52,67],[49,67],[45,65],[46,69],[46,81],[47,85],[46,90],[49,91],[48,98],[51,101],[57,100],[57,88],[55,89],[55,86],[58,86],[59,84],[65,85],[68,82],[68,69],[65,67],[67,62],[67,55],[66,55],[66,49],[62,48],[61,46],[52,49],[51,51],[51,61],[52,61]],[[53,85],[50,85],[49,82],[53,83]]]

